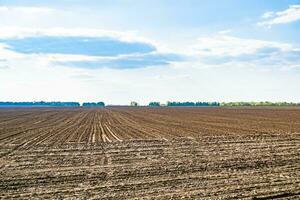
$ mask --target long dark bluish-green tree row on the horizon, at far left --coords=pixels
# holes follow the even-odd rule
[[[78,102],[45,102],[45,101],[34,101],[34,102],[0,102],[0,106],[20,106],[20,107],[35,107],[35,106],[53,106],[53,107],[61,107],[61,106],[73,106],[78,107],[80,103]]]

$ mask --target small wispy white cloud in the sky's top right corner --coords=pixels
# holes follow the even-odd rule
[[[300,5],[289,6],[287,10],[280,12],[266,12],[262,16],[267,19],[257,23],[258,26],[271,27],[276,24],[287,24],[300,20]]]

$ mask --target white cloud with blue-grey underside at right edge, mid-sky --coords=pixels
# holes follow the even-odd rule
[[[299,47],[293,44],[219,34],[199,38],[193,52],[189,65],[200,68],[222,68],[229,63],[237,68],[282,71],[296,69],[300,63]]]

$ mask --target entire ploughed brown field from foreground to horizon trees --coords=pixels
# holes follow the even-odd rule
[[[300,108],[0,108],[2,199],[300,199]]]

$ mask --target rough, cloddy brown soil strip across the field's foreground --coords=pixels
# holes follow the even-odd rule
[[[298,136],[299,139],[299,136]],[[2,160],[11,198],[299,197],[299,142],[140,140],[33,148]]]

